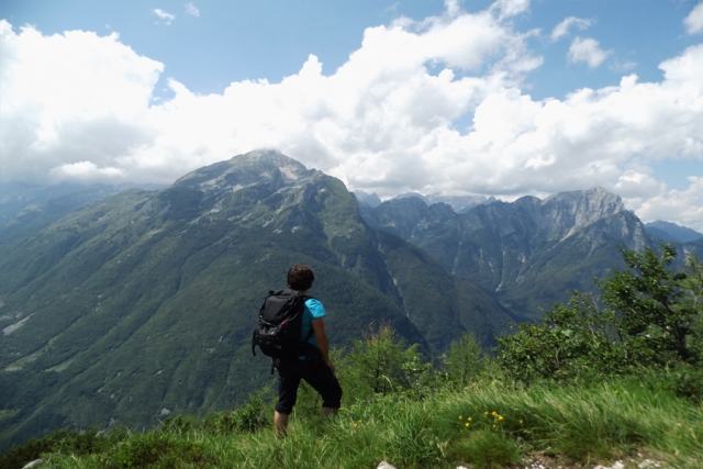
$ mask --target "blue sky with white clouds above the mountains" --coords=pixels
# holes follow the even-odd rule
[[[382,199],[598,186],[703,232],[703,1],[0,2],[1,181],[258,148]]]

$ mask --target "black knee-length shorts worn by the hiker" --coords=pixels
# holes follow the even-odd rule
[[[290,415],[298,399],[300,380],[304,379],[322,397],[322,406],[339,409],[342,388],[332,370],[322,360],[276,360],[278,402],[276,411]]]

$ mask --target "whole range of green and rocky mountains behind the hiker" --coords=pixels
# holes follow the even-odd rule
[[[242,402],[271,382],[250,334],[295,263],[315,271],[334,346],[389,324],[429,358],[467,332],[488,348],[621,268],[617,246],[661,243],[603,189],[462,213],[413,194],[371,206],[275,150],[88,193],[16,203],[0,226],[0,449]]]

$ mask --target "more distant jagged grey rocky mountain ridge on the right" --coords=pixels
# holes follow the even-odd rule
[[[617,246],[658,246],[620,197],[600,188],[495,201],[464,214],[419,198],[360,210],[369,225],[415,244],[447,271],[534,317],[569,291],[593,290],[594,278],[623,268]]]

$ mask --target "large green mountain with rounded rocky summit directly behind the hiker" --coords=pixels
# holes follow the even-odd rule
[[[339,180],[258,150],[0,239],[0,446],[243,401],[272,379],[250,334],[294,263],[315,271],[333,346],[387,323],[431,355],[521,320],[358,206]]]

